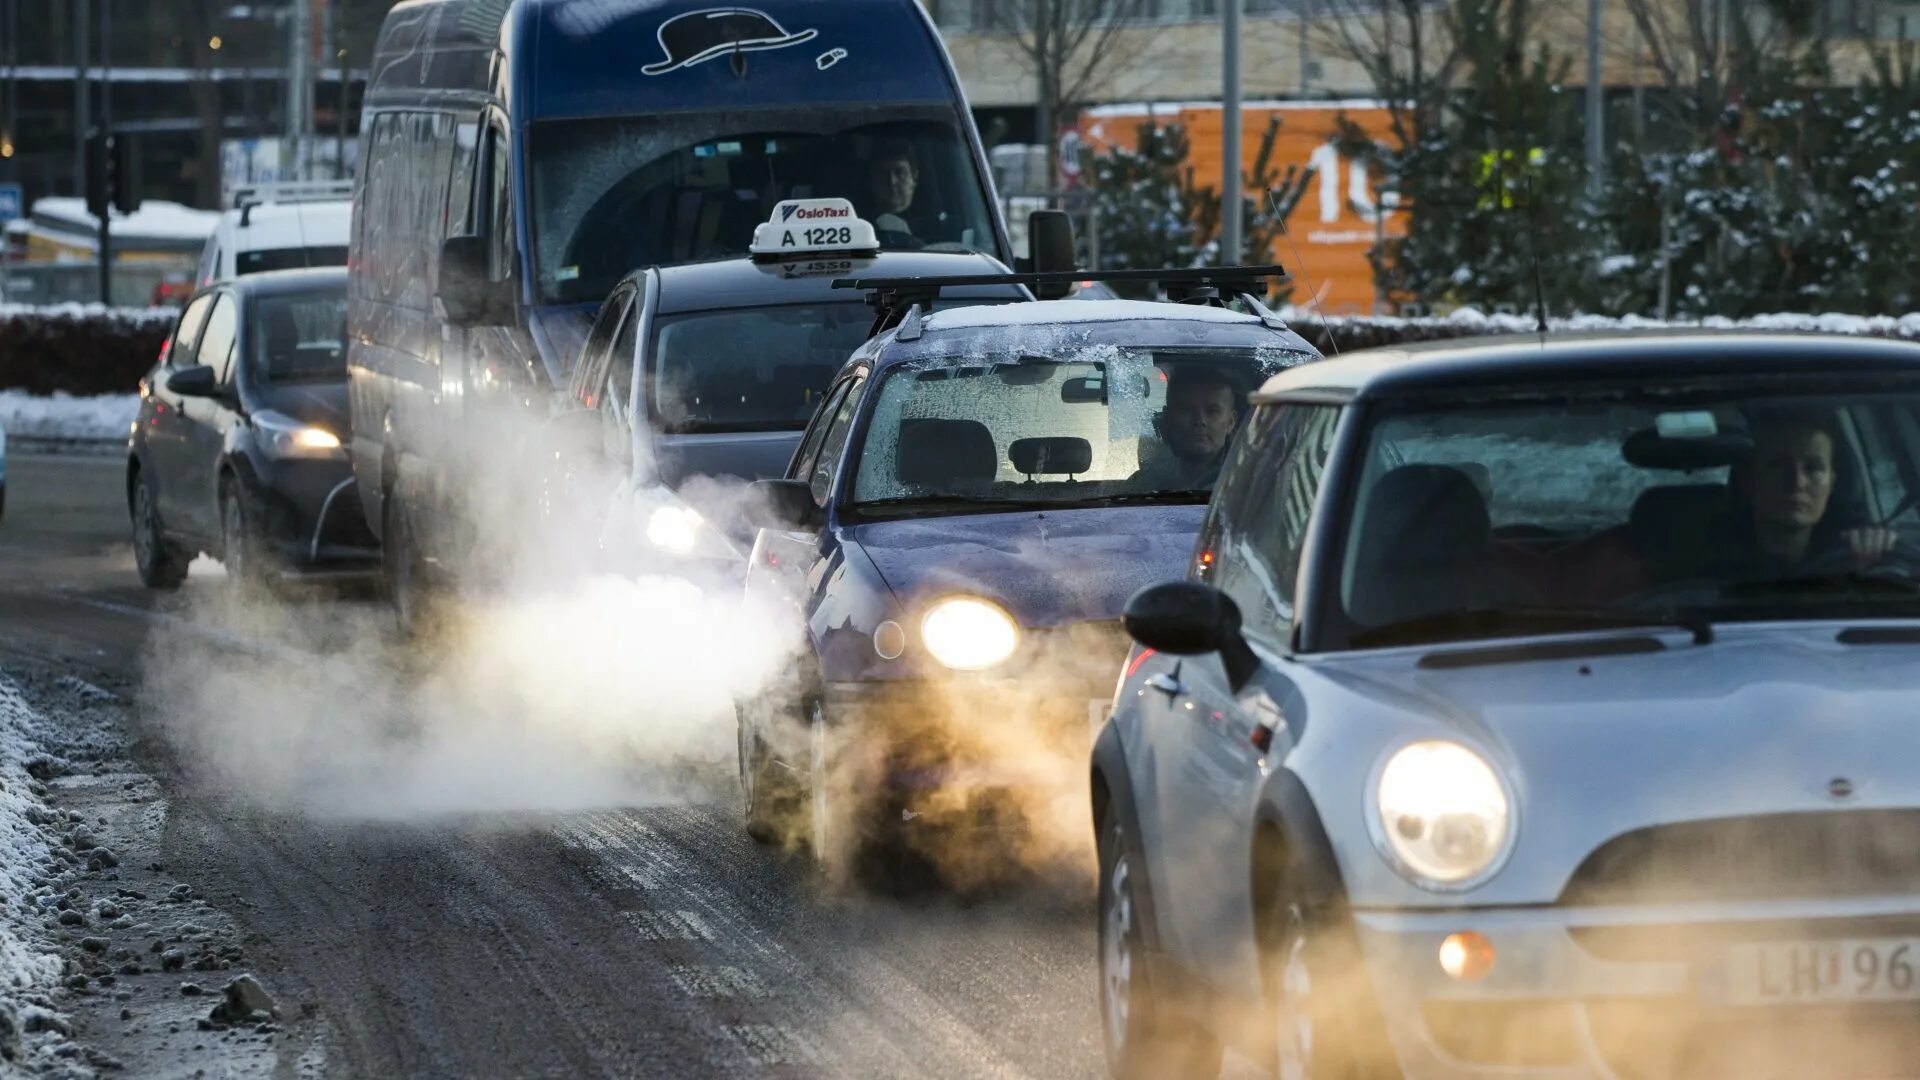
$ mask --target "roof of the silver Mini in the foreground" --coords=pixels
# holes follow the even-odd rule
[[[1914,373],[1920,344],[1816,332],[1596,331],[1505,334],[1350,352],[1281,371],[1254,404],[1298,396],[1392,398],[1473,386],[1690,375]]]

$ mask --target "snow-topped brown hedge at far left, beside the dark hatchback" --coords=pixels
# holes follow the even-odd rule
[[[154,367],[171,307],[0,306],[0,390],[127,394]]]

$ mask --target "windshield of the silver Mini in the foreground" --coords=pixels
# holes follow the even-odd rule
[[[1340,648],[1920,617],[1916,502],[1912,388],[1394,407],[1348,503],[1329,632]]]

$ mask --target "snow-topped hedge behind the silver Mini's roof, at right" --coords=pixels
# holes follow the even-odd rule
[[[1473,338],[1482,334],[1532,334],[1536,329],[1532,315],[1488,315],[1473,307],[1461,307],[1448,315],[1396,319],[1390,315],[1329,315],[1325,321],[1311,307],[1283,307],[1281,317],[1300,336],[1313,342],[1313,348],[1332,356],[1336,344],[1340,352],[1359,348],[1396,346],[1411,342],[1432,342],[1450,338]],[[1920,311],[1910,315],[1755,315],[1753,319],[1699,319],[1699,321],[1661,321],[1626,315],[1620,319],[1603,315],[1572,315],[1567,319],[1548,319],[1551,331],[1649,331],[1649,329],[1709,329],[1709,331],[1780,331],[1780,332],[1818,332],[1818,334],[1859,334],[1876,338],[1920,340]]]

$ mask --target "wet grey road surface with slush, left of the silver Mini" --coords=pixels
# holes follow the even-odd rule
[[[29,696],[35,676],[79,675],[129,703],[119,723],[163,798],[140,807],[150,832],[123,842],[134,846],[123,857],[165,867],[232,919],[250,970],[292,1017],[278,1042],[217,1070],[1100,1072],[1081,890],[833,899],[793,861],[747,842],[724,801],[369,824],[263,811],[196,778],[157,738],[169,717],[142,690],[156,636],[196,632],[194,615],[184,598],[156,603],[134,578],[117,459],[10,465],[0,673],[25,678]],[[161,982],[154,994],[171,992]],[[61,1005],[129,1074],[209,1067],[211,1049],[196,1047],[211,1036],[169,1042],[115,1020],[117,1003],[84,997]]]

